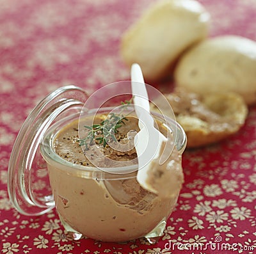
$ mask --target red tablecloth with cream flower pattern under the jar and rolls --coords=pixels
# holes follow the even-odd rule
[[[152,0],[1,1],[1,253],[255,253],[255,106],[232,138],[184,152],[184,187],[164,235],[155,245],[145,239],[122,244],[70,241],[55,210],[38,217],[23,216],[8,199],[8,160],[28,113],[60,86],[76,84],[92,93],[105,84],[129,79],[118,42],[149,2]],[[200,2],[212,15],[211,36],[235,34],[256,40],[255,0]],[[204,248],[193,250],[195,244]],[[233,251],[225,250],[230,246]]]

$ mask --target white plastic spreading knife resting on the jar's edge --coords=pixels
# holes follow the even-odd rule
[[[148,191],[157,191],[147,184],[150,162],[159,157],[163,141],[167,139],[154,127],[154,118],[150,115],[147,88],[144,83],[140,65],[134,63],[131,67],[132,95],[136,115],[139,118],[140,131],[134,137],[134,145],[138,155],[137,180]]]

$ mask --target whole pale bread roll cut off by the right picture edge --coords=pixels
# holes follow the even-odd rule
[[[175,68],[177,87],[201,95],[234,91],[246,104],[256,102],[256,42],[218,36],[187,51]]]

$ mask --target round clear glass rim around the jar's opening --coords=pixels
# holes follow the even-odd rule
[[[92,113],[92,115],[93,115],[93,113],[95,113],[97,111],[100,114],[101,111],[106,112],[106,111],[111,111],[111,109],[113,109],[113,107],[102,107],[100,109],[90,109],[90,113]],[[172,132],[175,132],[174,133],[175,146],[177,147],[177,150],[179,150],[179,152],[182,154],[182,152],[184,152],[184,149],[186,148],[186,134],[185,134],[184,130],[182,129],[182,127],[179,125],[179,123],[177,123],[172,118],[169,118],[168,116],[163,117],[163,115],[156,113],[156,112],[152,112],[152,115],[161,120],[165,120],[172,127],[175,126],[175,128],[173,128],[173,129],[170,129],[170,126],[166,126],[166,127],[168,127]],[[47,163],[49,163],[55,167],[60,167],[60,165],[61,165],[61,169],[59,168],[61,171],[65,171],[66,173],[68,172],[71,174],[76,174],[79,177],[84,177],[84,178],[93,178],[93,179],[99,179],[99,180],[106,180],[106,179],[120,180],[120,179],[128,179],[128,178],[136,177],[136,174],[134,174],[134,172],[136,173],[136,171],[138,169],[138,164],[122,166],[120,168],[116,168],[116,170],[119,172],[129,170],[130,173],[109,173],[108,171],[104,171],[104,168],[99,169],[99,168],[93,167],[93,166],[84,166],[81,164],[72,163],[70,161],[63,159],[60,155],[58,155],[54,151],[53,141],[61,129],[58,127],[61,125],[61,123],[67,124],[67,123],[72,122],[72,120],[76,120],[78,118],[79,118],[78,113],[77,113],[77,115],[67,116],[67,118],[63,118],[63,120],[60,120],[60,121],[54,123],[54,125],[52,125],[52,127],[49,128],[49,130],[47,130],[47,132],[45,133],[45,136],[40,144],[40,152],[41,152],[42,156],[44,157],[45,161],[47,161]],[[64,125],[62,125],[62,127],[64,127]],[[54,129],[58,129],[58,131],[53,131]],[[71,168],[72,168],[72,170],[70,170]],[[107,170],[107,168],[106,168],[106,170]]]

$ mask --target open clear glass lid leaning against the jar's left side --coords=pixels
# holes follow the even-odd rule
[[[8,166],[8,194],[21,214],[40,215],[54,207],[40,142],[57,118],[81,111],[86,99],[86,92],[77,86],[59,88],[45,97],[22,125]]]

